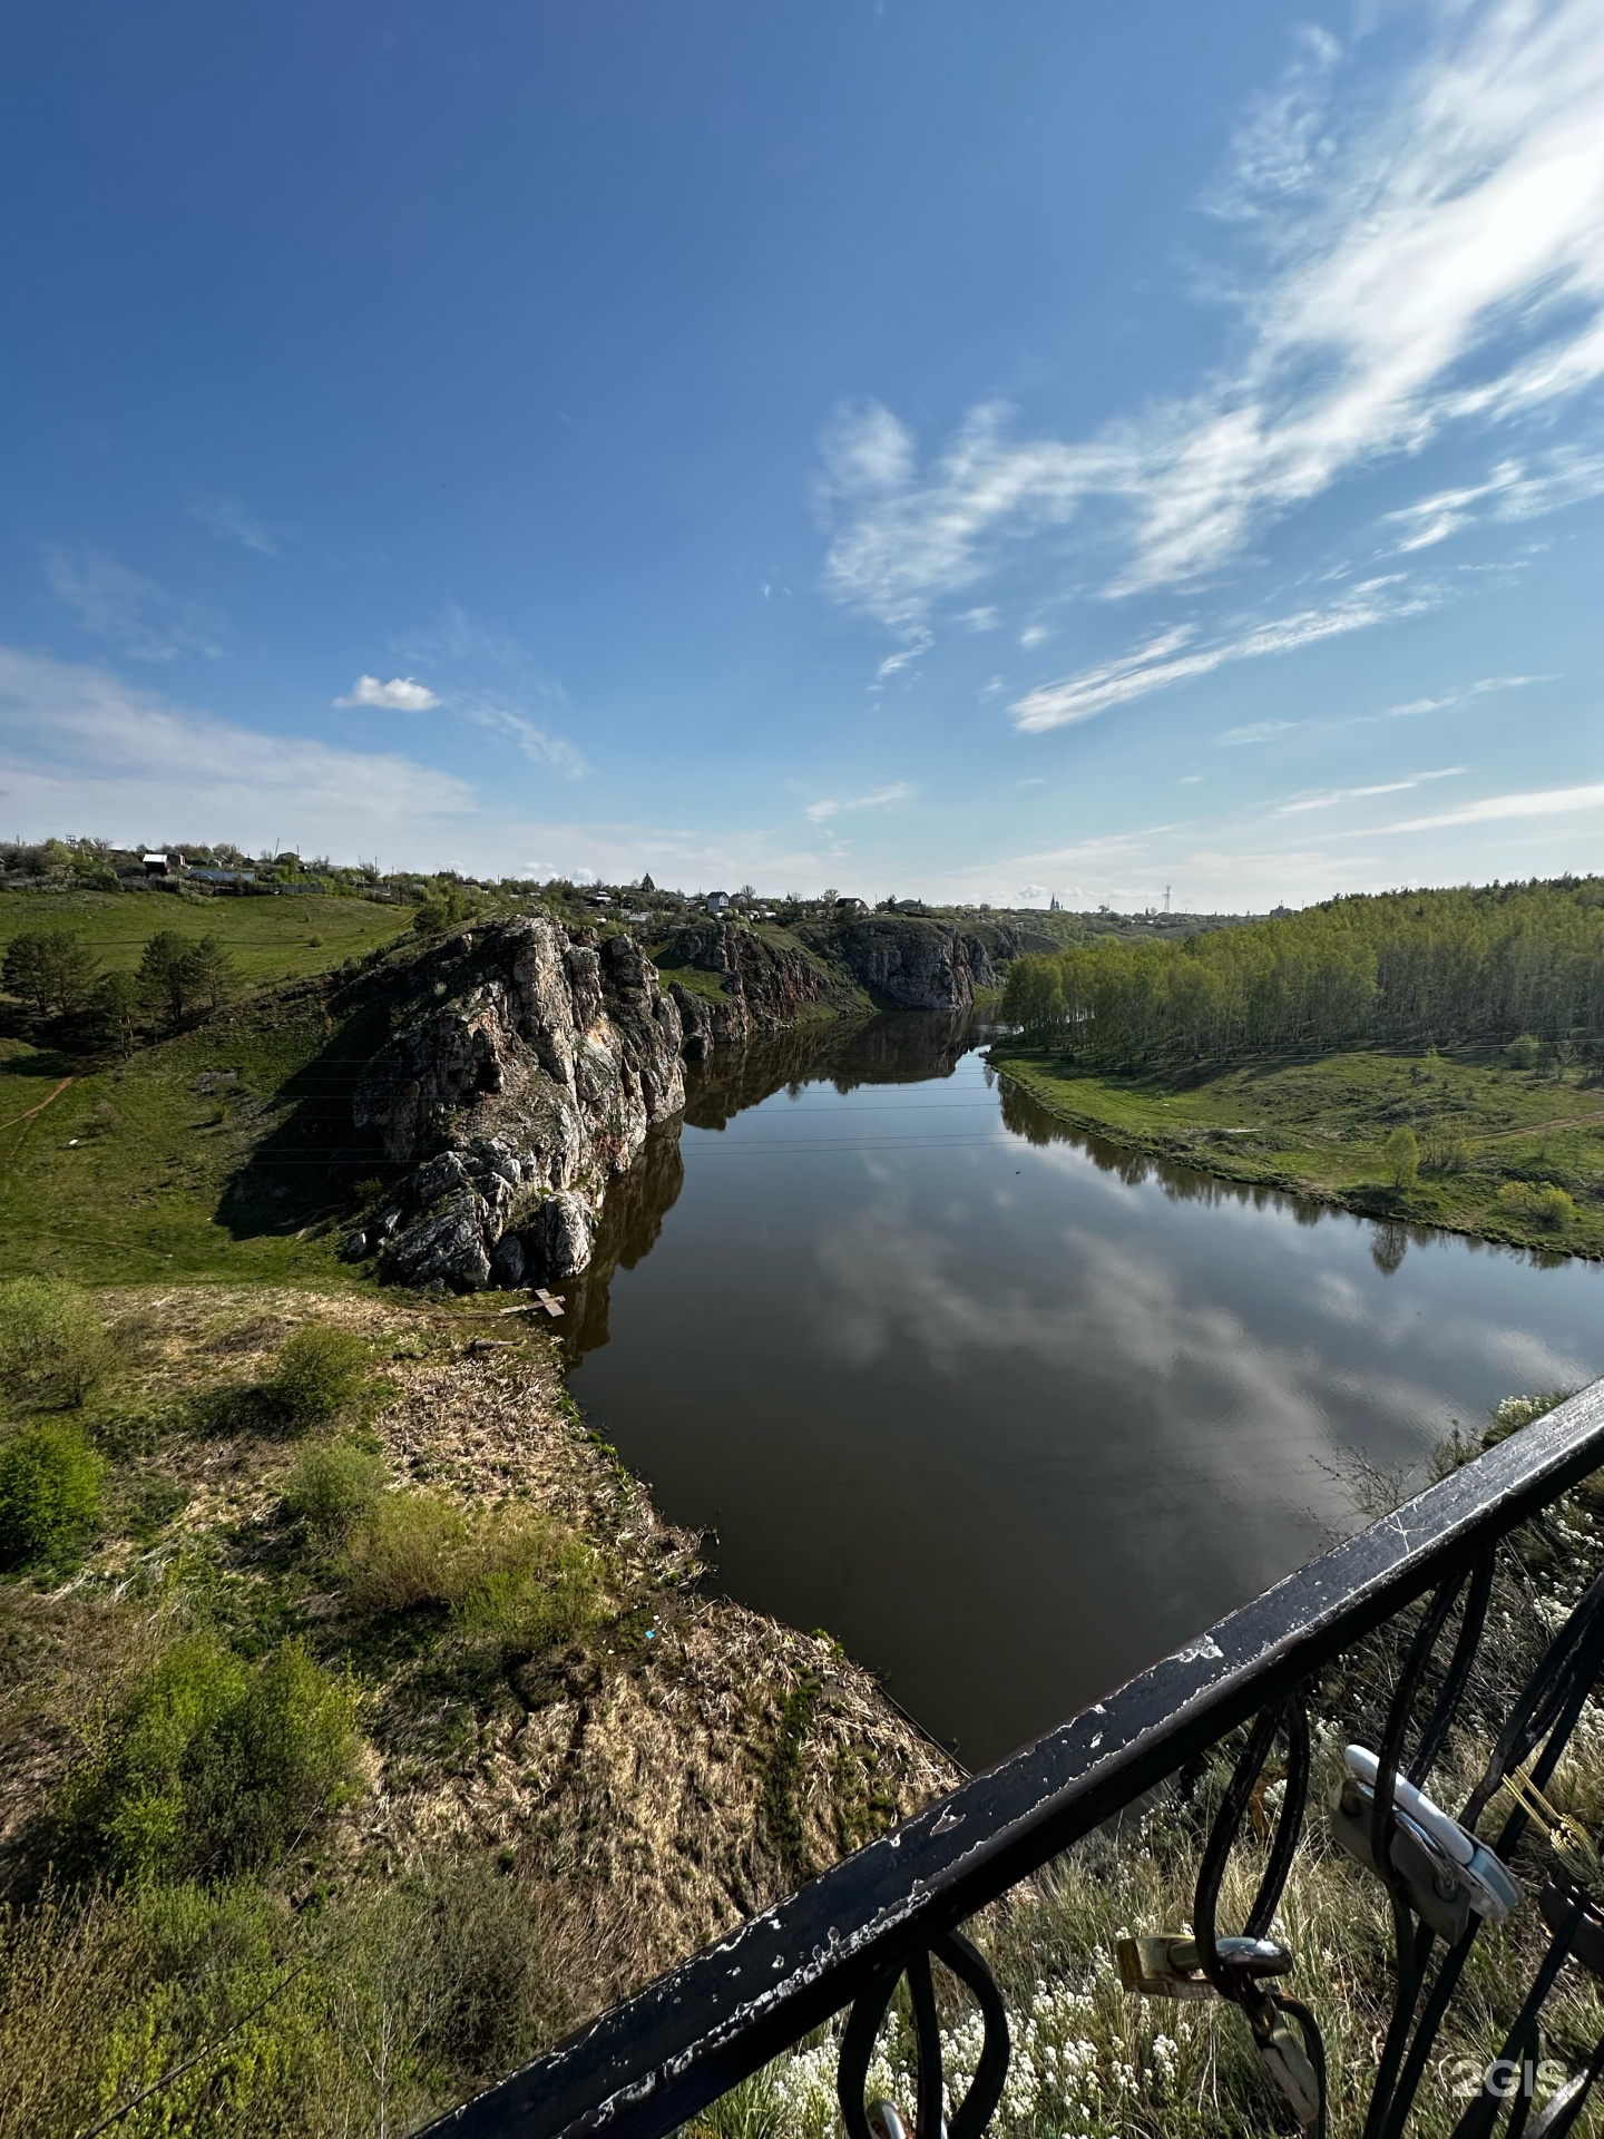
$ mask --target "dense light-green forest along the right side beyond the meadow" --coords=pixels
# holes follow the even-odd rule
[[[1604,1046],[1604,879],[1332,898],[1185,937],[1016,958],[1001,1014],[1086,1061],[1349,1046]]]

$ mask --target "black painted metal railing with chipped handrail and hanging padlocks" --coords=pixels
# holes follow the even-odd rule
[[[1538,2107],[1529,2088],[1510,2090],[1508,2075],[1529,2068],[1544,2000],[1566,1961],[1604,1976],[1604,1865],[1587,1833],[1557,1820],[1544,1797],[1604,1662],[1604,1574],[1527,1681],[1503,1694],[1486,1728],[1497,1743],[1469,1799],[1450,1816],[1422,1792],[1471,1683],[1486,1698],[1478,1651],[1501,1546],[1600,1465],[1604,1382],[441,2118],[428,2128],[432,2139],[661,2139],[847,2009],[845,2128],[870,2139],[879,2126],[894,2139],[896,2109],[868,2105],[864,2088],[903,1979],[917,2045],[917,2100],[903,2113],[935,2135],[943,2073],[932,1957],[984,2015],[977,2071],[945,2124],[950,2139],[980,2139],[1007,2075],[1007,2013],[960,1925],[1243,1726],[1247,1741],[1202,1848],[1191,1932],[1129,1940],[1121,1951],[1127,1987],[1236,2004],[1279,2083],[1283,2124],[1322,2130],[1328,2098],[1341,2098],[1343,2122],[1362,2126],[1364,2139],[1397,2139],[1409,2128],[1484,1923],[1516,1904],[1538,1910],[1544,1951],[1521,1987],[1501,2056],[1489,2060],[1454,2133],[1484,2139],[1506,2120],[1508,2139],[1559,2139],[1604,2073],[1604,2036]],[[1281,1987],[1290,1955],[1268,1934],[1309,1814],[1311,1694],[1324,1690],[1324,1701],[1332,1683],[1341,1688],[1345,1660],[1401,1613],[1397,1683],[1373,1730],[1379,1743],[1369,1756],[1349,1754],[1347,1778],[1320,1807],[1349,1857],[1373,1874],[1382,1867],[1375,1876],[1394,1932],[1392,2015],[1362,2073],[1328,2073],[1315,2015]],[[1262,1784],[1273,1756],[1281,1788],[1264,1874],[1247,1921],[1228,1929],[1217,1921],[1225,1865],[1249,1812],[1268,1825]],[[1527,1897],[1508,1876],[1523,1835],[1527,1855],[1542,1844],[1540,1891]]]

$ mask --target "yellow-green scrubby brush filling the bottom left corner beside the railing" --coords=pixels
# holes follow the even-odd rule
[[[483,1852],[426,1855],[327,1908],[252,1880],[47,1889],[0,1906],[0,2130],[411,2133],[588,2011],[575,1944]],[[152,2081],[118,2122],[107,2105]]]

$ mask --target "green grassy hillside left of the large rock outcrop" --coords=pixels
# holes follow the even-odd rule
[[[351,1181],[329,1151],[376,1035],[342,1044],[317,975],[394,941],[406,918],[359,898],[0,896],[0,943],[71,926],[105,967],[133,967],[156,928],[216,935],[252,990],[126,1063],[53,1044],[4,1005],[0,1275],[336,1281]]]

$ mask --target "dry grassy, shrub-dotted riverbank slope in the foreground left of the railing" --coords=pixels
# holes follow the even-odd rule
[[[96,1305],[109,1378],[49,1431],[96,1452],[98,1532],[0,1583],[0,2133],[68,2139],[150,2081],[173,2133],[411,2130],[958,1780],[828,1636],[704,1591],[526,1320]],[[308,1326],[370,1375],[314,1422],[282,1380]],[[207,1795],[227,1703],[284,1688]],[[306,1767],[308,1703],[338,1778],[225,1859],[205,1820]],[[51,1874],[90,1773],[145,1790],[94,1842],[143,1880]]]

